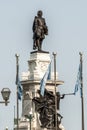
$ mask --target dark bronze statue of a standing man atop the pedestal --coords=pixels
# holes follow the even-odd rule
[[[45,19],[42,17],[43,12],[39,10],[37,16],[34,18],[33,22],[33,49],[38,51],[42,50],[42,41],[45,35],[48,35],[48,28],[46,26]]]

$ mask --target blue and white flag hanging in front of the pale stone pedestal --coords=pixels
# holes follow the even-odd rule
[[[50,73],[50,67],[51,66],[51,62],[47,68],[47,71],[45,72],[43,78],[41,79],[41,82],[40,82],[40,94],[42,96],[44,96],[44,90],[45,90],[45,85],[46,85],[46,81],[48,79],[48,76],[49,76],[49,73]]]

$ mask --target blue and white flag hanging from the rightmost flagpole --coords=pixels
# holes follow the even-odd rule
[[[77,81],[74,89],[74,95],[76,95],[76,92],[78,92],[79,89],[81,90],[81,74],[82,74],[82,70],[81,70],[81,63],[80,63],[78,74],[77,74]]]

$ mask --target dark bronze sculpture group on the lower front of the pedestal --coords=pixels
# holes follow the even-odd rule
[[[40,95],[40,90],[38,90],[38,94]],[[59,100],[63,98],[64,95],[59,96],[59,93],[57,93],[58,103]],[[40,114],[39,120],[41,122],[41,127],[53,129],[55,127],[55,95],[53,92],[45,89],[44,97],[40,95],[40,97],[34,97],[32,101],[35,103],[35,110]],[[57,109],[59,109],[59,104]],[[58,130],[61,130],[59,128],[61,119],[62,116],[57,113]]]

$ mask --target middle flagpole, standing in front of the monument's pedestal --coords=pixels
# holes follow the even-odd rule
[[[55,130],[57,130],[57,96],[56,96],[56,53],[54,56],[54,84],[55,84]]]

